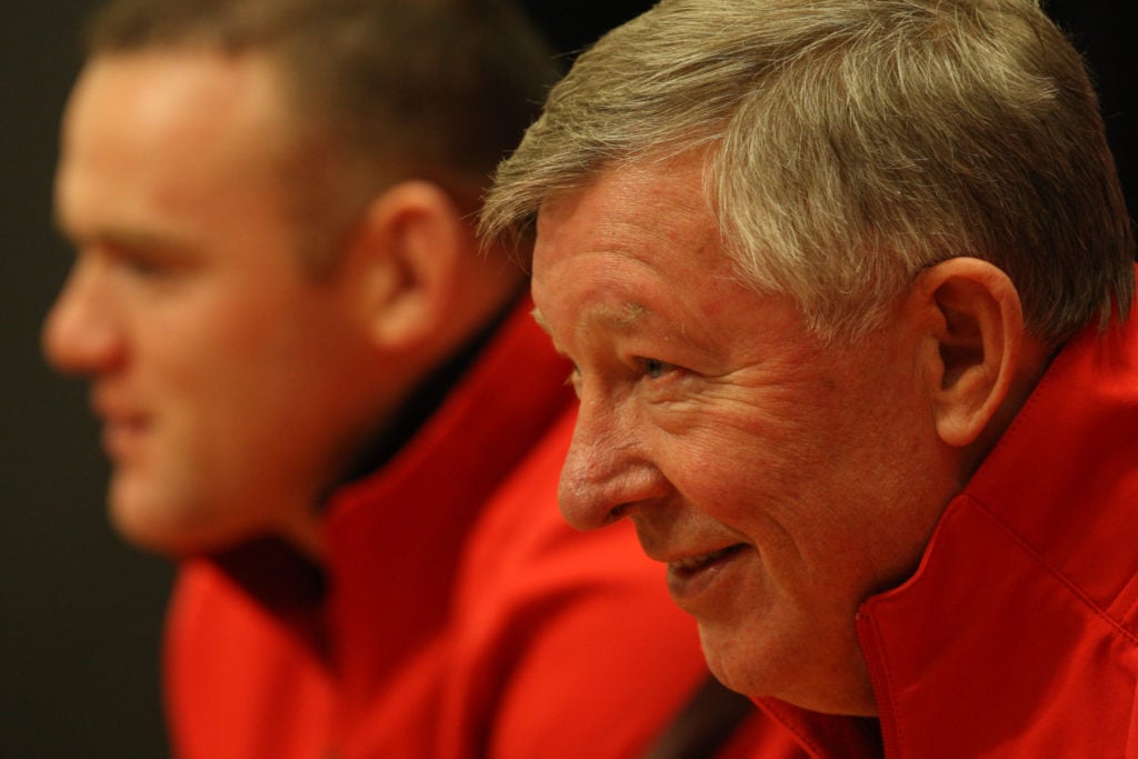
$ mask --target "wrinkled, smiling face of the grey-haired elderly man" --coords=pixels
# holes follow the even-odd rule
[[[855,616],[912,571],[955,487],[897,315],[853,348],[724,257],[700,164],[619,170],[542,208],[537,317],[575,364],[561,478],[668,567],[735,690],[873,713]]]

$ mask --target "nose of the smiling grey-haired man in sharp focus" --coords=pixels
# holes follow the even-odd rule
[[[604,527],[642,509],[666,487],[635,414],[583,395],[558,492],[566,520],[583,530]]]

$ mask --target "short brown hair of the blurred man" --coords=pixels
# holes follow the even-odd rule
[[[560,74],[510,0],[112,0],[86,27],[90,58],[178,48],[273,63],[306,158],[340,167],[290,181],[314,217],[412,178],[475,212]]]

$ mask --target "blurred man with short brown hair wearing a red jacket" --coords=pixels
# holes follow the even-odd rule
[[[561,523],[568,366],[469,224],[550,60],[489,1],[96,17],[44,343],[183,562],[176,756],[635,756],[703,677],[632,536]]]

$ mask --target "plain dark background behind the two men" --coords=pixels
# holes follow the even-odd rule
[[[79,67],[83,0],[17,0],[0,31],[0,753],[147,758],[167,754],[158,643],[171,570],[107,527],[107,467],[80,382],[51,374],[39,327],[71,254],[52,231],[59,112]],[[555,46],[571,51],[646,2],[533,0]],[[13,7],[16,6],[16,7]],[[1114,0],[1050,5],[1087,53],[1135,205],[1136,76]]]

